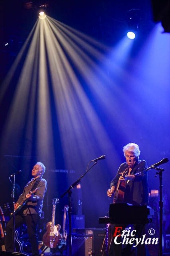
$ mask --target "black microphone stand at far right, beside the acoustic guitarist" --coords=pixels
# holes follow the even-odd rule
[[[162,172],[164,171],[164,169],[162,168],[159,168],[159,167],[156,167],[155,165],[152,165],[150,166],[149,168],[147,168],[147,170],[144,170],[145,171],[148,171],[150,169],[155,169],[157,170],[158,172],[156,172],[156,175],[155,177],[157,177],[157,175],[159,175],[159,256],[162,256],[163,255],[163,245],[162,245],[162,241],[163,241],[163,204],[164,204],[164,201],[162,200]]]

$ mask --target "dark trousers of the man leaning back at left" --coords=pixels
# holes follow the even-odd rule
[[[29,242],[32,248],[33,256],[39,255],[38,249],[38,236],[37,236],[37,225],[39,215],[38,214],[27,214],[26,216],[16,215],[15,216],[15,228],[19,228],[23,223],[27,225],[27,233]],[[6,225],[6,250],[13,252],[13,218]]]

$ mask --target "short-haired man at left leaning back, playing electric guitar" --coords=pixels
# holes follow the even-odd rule
[[[33,256],[39,255],[37,225],[38,220],[41,217],[43,198],[47,190],[47,181],[42,178],[44,172],[44,164],[37,162],[32,170],[33,178],[26,184],[22,194],[15,204],[16,209],[20,203],[27,198],[27,203],[25,206],[23,206],[23,208],[21,208],[21,210],[15,215],[15,228],[18,228],[23,223],[26,223]],[[39,189],[35,192],[35,194],[30,194],[30,192],[35,190],[37,187]],[[6,251],[14,252],[15,248],[13,248],[12,230],[13,218],[6,226]]]

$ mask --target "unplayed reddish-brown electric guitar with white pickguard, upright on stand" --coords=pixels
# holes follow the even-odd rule
[[[57,245],[60,244],[62,241],[61,234],[59,233],[61,226],[59,224],[55,225],[55,208],[58,202],[59,202],[59,198],[53,199],[52,220],[51,222],[48,222],[46,224],[47,231],[43,235],[43,243],[45,244],[45,246],[49,248],[57,247]]]

